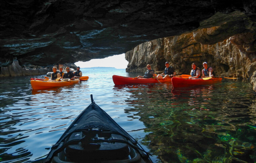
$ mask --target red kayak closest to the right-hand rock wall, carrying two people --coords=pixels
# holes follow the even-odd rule
[[[189,79],[189,78],[178,78],[173,77],[171,79],[173,88],[179,87],[191,87],[191,86],[198,86],[198,85],[207,85],[207,84],[214,84],[221,82],[222,78],[211,78],[208,80],[200,79]]]

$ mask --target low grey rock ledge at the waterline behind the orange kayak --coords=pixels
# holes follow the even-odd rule
[[[18,60],[13,60],[12,64],[8,67],[1,67],[0,77],[7,76],[33,76],[33,75],[46,75],[47,72],[51,72],[52,69],[34,69],[29,70],[22,68],[19,65]]]

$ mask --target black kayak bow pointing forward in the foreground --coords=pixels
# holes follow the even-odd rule
[[[138,142],[105,111],[92,103],[52,147],[44,163],[152,163]]]

